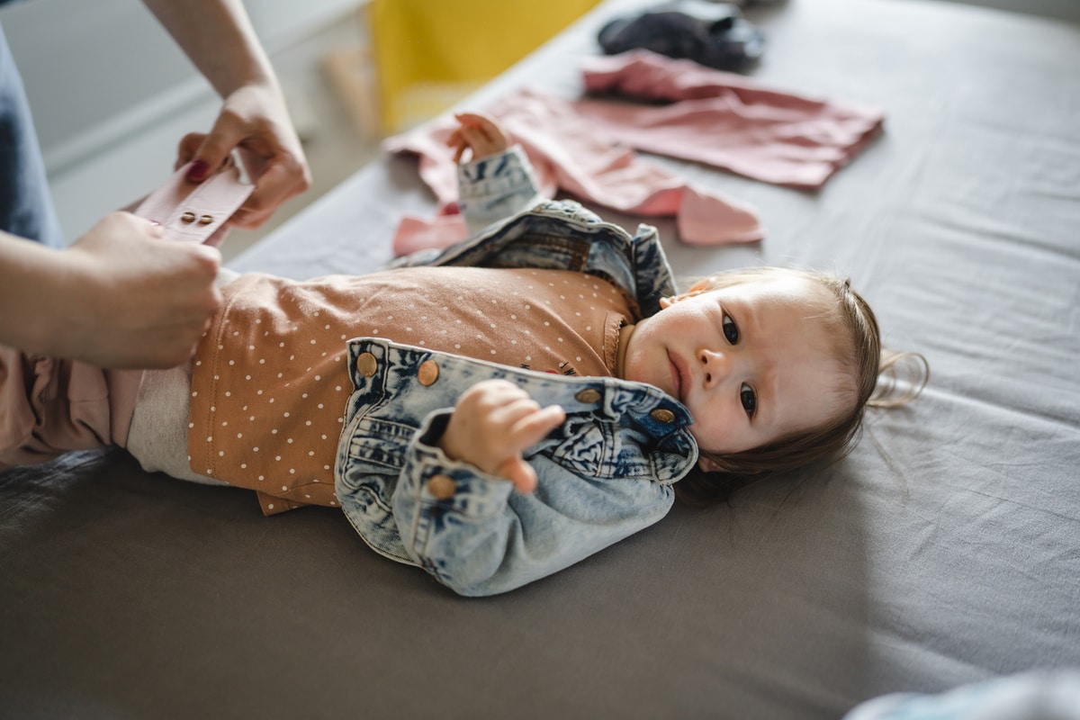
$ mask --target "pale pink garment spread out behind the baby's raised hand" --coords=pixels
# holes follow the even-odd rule
[[[674,216],[679,236],[690,244],[747,243],[765,235],[751,206],[692,187],[634,150],[597,134],[590,121],[575,116],[568,100],[521,91],[485,112],[523,146],[544,196],[553,198],[562,189],[583,202],[625,213]],[[441,204],[435,220],[408,217],[399,227],[394,239],[397,255],[442,247],[464,236],[464,225],[451,215],[457,201],[457,169],[445,145],[456,125],[451,118],[440,118],[386,142],[390,152],[420,155],[420,177]]]

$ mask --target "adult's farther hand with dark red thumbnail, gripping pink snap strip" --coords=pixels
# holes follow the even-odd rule
[[[255,190],[229,225],[254,229],[286,200],[311,187],[303,149],[275,84],[252,83],[228,95],[208,134],[190,133],[180,140],[176,167],[193,163],[187,177],[201,182],[238,147],[255,160],[256,166],[247,168]]]

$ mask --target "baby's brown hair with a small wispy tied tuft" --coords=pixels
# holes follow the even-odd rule
[[[854,404],[818,427],[761,447],[731,454],[702,452],[717,470],[696,470],[675,484],[676,497],[687,504],[725,502],[739,489],[768,475],[823,460],[839,460],[854,447],[866,407],[906,405],[922,392],[930,379],[930,366],[922,355],[881,347],[877,317],[848,279],[788,268],[745,268],[706,277],[696,283],[693,289],[708,291],[784,276],[820,283],[832,293],[835,299],[832,312],[818,320],[839,330],[834,332],[836,357],[855,380]]]

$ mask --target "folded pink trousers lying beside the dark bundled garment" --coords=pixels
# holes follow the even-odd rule
[[[877,108],[782,92],[648,51],[591,57],[582,70],[590,93],[666,103],[573,103],[594,132],[778,185],[820,188],[885,120]]]

